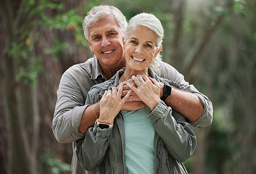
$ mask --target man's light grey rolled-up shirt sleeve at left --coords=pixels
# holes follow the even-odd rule
[[[78,127],[88,106],[85,105],[85,97],[92,85],[92,80],[81,75],[78,68],[72,67],[62,75],[52,120],[52,131],[58,142],[71,143],[84,137],[78,132]]]

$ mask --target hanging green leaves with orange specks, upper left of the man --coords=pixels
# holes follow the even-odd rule
[[[49,28],[53,33],[62,35],[64,32],[74,34],[74,43],[79,48],[85,46],[85,39],[82,32],[82,16],[77,9],[66,10],[62,2],[47,0],[23,0],[17,12],[17,19],[20,24],[16,26],[16,39],[5,50],[8,57],[12,57],[20,63],[19,78],[23,84],[34,83],[37,75],[41,72],[41,57],[35,53],[35,45],[41,37],[42,28]],[[56,15],[53,13],[56,12]],[[23,23],[23,20],[25,21]],[[56,59],[59,53],[68,48],[68,43],[61,42],[58,35],[53,35],[55,46],[53,48],[42,48],[44,53],[52,54]],[[26,63],[22,63],[26,60]]]

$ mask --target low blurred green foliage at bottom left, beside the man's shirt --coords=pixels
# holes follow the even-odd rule
[[[51,174],[71,173],[70,164],[66,164],[60,161],[58,158],[53,157],[52,155],[44,154],[41,156],[40,159],[42,163],[44,163],[46,166],[49,167],[49,171],[46,171],[47,173],[51,173]]]

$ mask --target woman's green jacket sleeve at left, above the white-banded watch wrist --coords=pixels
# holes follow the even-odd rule
[[[93,88],[89,91],[86,104],[93,104],[96,102],[98,93],[95,93],[97,89]],[[109,147],[109,139],[111,135],[110,129],[101,129],[96,124],[85,134],[85,137],[77,140],[77,158],[80,164],[87,170],[91,171],[96,166],[100,165],[107,148]]]

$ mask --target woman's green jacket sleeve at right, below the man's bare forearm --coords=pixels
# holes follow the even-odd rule
[[[196,135],[185,117],[161,101],[148,115],[175,160],[184,162],[196,148]]]

